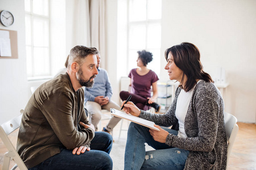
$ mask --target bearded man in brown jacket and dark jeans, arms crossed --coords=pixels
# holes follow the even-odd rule
[[[28,169],[112,169],[112,137],[96,131],[84,111],[84,90],[98,74],[98,50],[71,49],[67,73],[42,84],[22,116],[17,150]]]

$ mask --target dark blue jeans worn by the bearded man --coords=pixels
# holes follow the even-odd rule
[[[112,169],[113,162],[109,156],[112,149],[112,136],[106,132],[96,131],[90,143],[90,151],[73,155],[72,150],[62,148],[59,154],[44,160],[30,170],[39,169]]]

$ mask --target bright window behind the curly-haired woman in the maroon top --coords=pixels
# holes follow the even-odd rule
[[[127,69],[130,71],[137,66],[137,51],[145,49],[153,54],[148,68],[159,75],[162,1],[129,0],[128,8]]]

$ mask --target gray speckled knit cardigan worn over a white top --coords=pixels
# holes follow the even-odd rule
[[[156,125],[177,126],[175,117],[177,97],[166,114],[151,114],[142,111],[139,117],[154,121]],[[188,112],[185,116],[187,138],[168,134],[166,144],[189,151],[184,169],[226,169],[227,141],[224,126],[224,102],[220,91],[213,83],[197,83]],[[178,130],[176,128],[176,130]]]

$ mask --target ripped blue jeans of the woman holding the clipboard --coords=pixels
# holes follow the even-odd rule
[[[163,128],[177,135],[176,130]],[[146,151],[145,144],[155,148]],[[127,169],[184,169],[189,151],[156,142],[149,128],[131,122],[125,148],[125,170]]]

